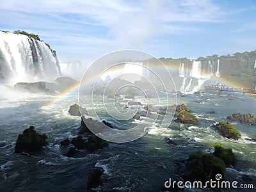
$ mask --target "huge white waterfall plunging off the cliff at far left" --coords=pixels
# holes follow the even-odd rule
[[[56,52],[43,42],[0,31],[0,83],[50,80],[60,75]]]

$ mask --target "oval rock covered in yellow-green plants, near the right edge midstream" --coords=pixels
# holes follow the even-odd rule
[[[212,127],[228,139],[238,140],[241,138],[241,133],[236,129],[236,125],[232,125],[230,122],[219,122],[212,125]]]

